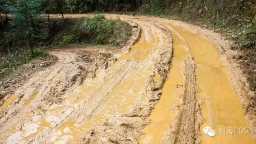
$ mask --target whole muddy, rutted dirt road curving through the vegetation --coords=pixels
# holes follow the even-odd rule
[[[3,98],[0,143],[255,143],[229,41],[179,21],[105,16],[136,25],[125,47],[51,50],[58,61]]]

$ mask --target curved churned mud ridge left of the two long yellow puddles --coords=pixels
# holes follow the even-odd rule
[[[160,55],[154,64],[154,75],[160,75],[160,81],[154,81],[151,75],[147,81],[148,98],[144,101],[138,101],[131,110],[123,115],[116,115],[105,121],[102,126],[96,126],[90,129],[78,144],[95,144],[95,143],[116,143],[116,144],[134,144],[137,143],[137,138],[142,134],[143,127],[148,124],[146,117],[153,109],[153,105],[157,104],[160,98],[161,88],[169,72],[172,60],[172,37],[170,33],[159,24],[152,24],[157,29],[160,29],[166,35],[166,44],[156,50],[156,54]],[[144,109],[145,112],[141,110]],[[102,141],[101,137],[106,138]]]

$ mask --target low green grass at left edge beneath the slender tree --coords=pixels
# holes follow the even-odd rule
[[[19,66],[29,63],[32,59],[47,57],[48,53],[39,48],[34,49],[34,56],[32,56],[29,49],[18,49],[12,52],[7,52],[0,57],[0,77],[6,73],[15,71]]]

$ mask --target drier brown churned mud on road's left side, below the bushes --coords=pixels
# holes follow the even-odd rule
[[[43,130],[40,124],[49,126],[49,123],[43,122],[44,116],[53,105],[63,104],[62,95],[70,88],[81,85],[85,78],[95,77],[96,69],[105,69],[109,62],[116,59],[111,50],[95,47],[80,48],[79,52],[58,48],[49,53],[58,57],[56,64],[31,75],[29,81],[15,91],[16,98],[6,100],[9,106],[6,102],[2,105],[5,109],[1,110],[0,127],[5,132],[1,132],[1,142],[7,138],[7,143],[19,140],[26,143],[28,137],[33,138],[32,134],[40,132],[40,128]],[[33,131],[26,130],[27,127]]]

